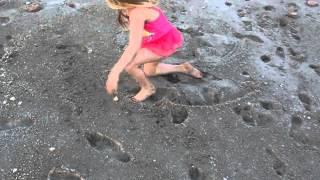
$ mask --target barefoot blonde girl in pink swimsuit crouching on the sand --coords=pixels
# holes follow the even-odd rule
[[[161,62],[164,57],[172,55],[182,46],[183,37],[156,6],[158,0],[106,1],[110,8],[118,10],[120,25],[130,32],[128,46],[108,75],[105,88],[109,94],[116,93],[123,70],[126,70],[141,88],[132,97],[136,102],[144,101],[156,92],[148,79],[149,76],[180,72],[202,78],[201,72],[190,63],[172,65]]]

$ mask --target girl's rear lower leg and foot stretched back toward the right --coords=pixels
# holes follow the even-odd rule
[[[178,72],[191,75],[195,78],[202,78],[202,73],[188,62],[179,65],[152,62],[144,64],[143,71],[147,76],[157,76]]]

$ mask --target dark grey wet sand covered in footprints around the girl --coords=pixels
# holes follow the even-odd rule
[[[0,0],[0,179],[319,179],[320,7],[228,2],[161,2],[185,39],[165,61],[205,77],[135,104],[126,73],[104,90],[127,37],[102,0]]]

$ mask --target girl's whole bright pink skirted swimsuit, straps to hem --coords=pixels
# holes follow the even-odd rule
[[[156,7],[159,17],[144,25],[145,36],[141,48],[146,48],[159,56],[170,56],[183,44],[183,36],[167,19],[164,13]]]

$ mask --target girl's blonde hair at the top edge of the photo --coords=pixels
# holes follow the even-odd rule
[[[128,9],[134,7],[152,7],[159,3],[159,0],[106,0],[111,9]]]

